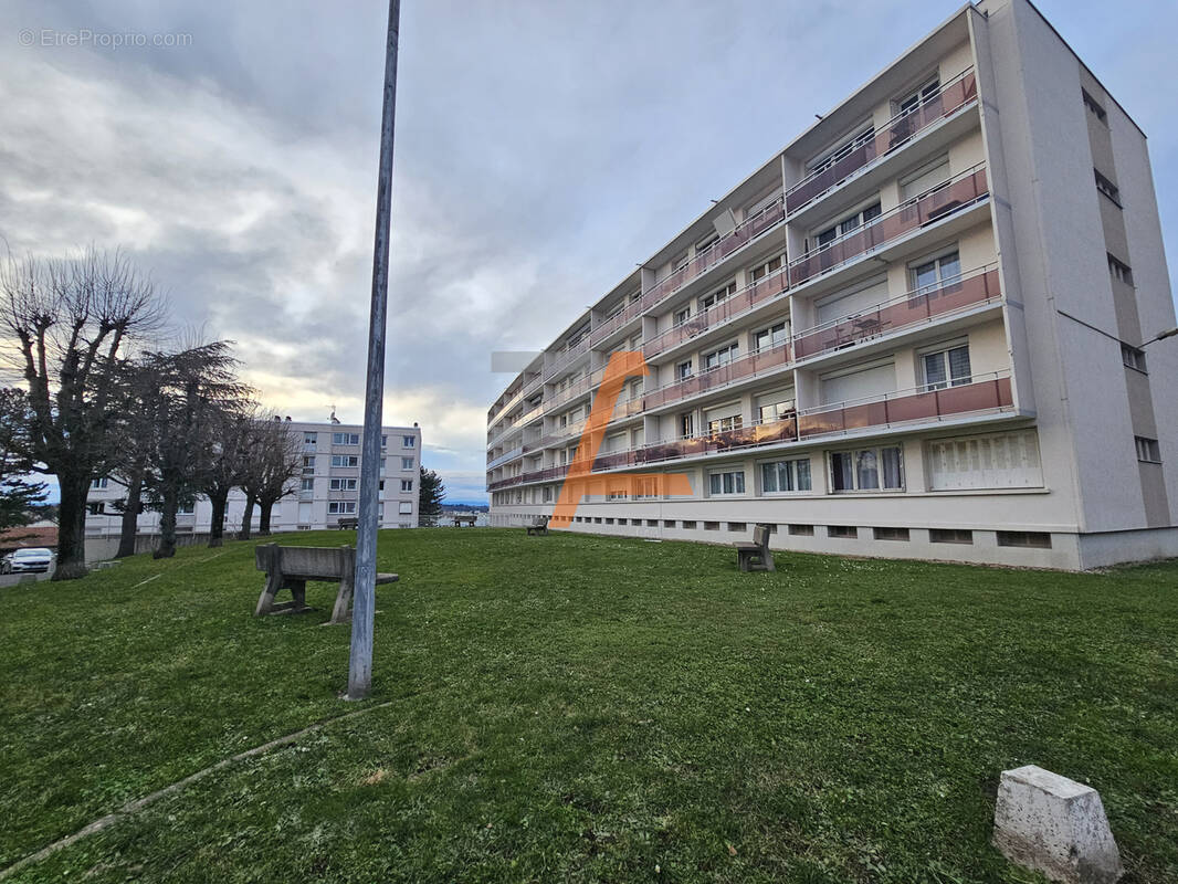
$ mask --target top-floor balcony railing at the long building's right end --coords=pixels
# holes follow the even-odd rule
[[[879,157],[907,144],[921,130],[957,113],[977,98],[978,84],[973,68],[969,68],[915,107],[893,117],[873,138],[855,146],[845,157],[798,182],[786,192],[786,211],[796,212]]]

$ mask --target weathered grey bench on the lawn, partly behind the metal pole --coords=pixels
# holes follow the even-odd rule
[[[331,622],[344,624],[351,619],[352,591],[356,586],[356,550],[343,547],[280,547],[263,543],[254,548],[258,570],[266,572],[266,585],[258,598],[254,616],[263,614],[297,614],[312,611],[306,603],[306,581],[339,581],[339,594],[331,612]],[[395,583],[396,574],[377,574],[376,582]],[[291,591],[291,601],[274,603],[279,589]]]

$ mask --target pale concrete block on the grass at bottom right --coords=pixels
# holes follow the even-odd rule
[[[1002,771],[994,846],[1067,884],[1112,884],[1123,871],[1100,794],[1034,765]]]

